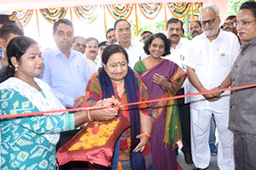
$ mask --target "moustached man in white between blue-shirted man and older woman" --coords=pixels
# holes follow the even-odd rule
[[[89,65],[91,74],[95,73],[100,67],[96,56],[98,55],[98,40],[95,37],[86,38],[86,48],[85,48],[85,57]]]

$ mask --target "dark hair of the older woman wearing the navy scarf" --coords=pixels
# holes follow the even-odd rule
[[[116,54],[116,53],[124,54],[125,55],[125,59],[127,60],[127,63],[129,63],[128,54],[126,53],[125,48],[122,48],[118,44],[108,45],[108,47],[103,50],[103,53],[102,53],[102,63],[104,65],[107,65],[108,59],[109,59],[110,55]]]

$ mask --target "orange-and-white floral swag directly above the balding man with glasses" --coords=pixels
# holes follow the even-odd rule
[[[113,16],[115,20],[119,20],[119,19],[127,20],[131,15],[131,11],[134,7],[134,3],[108,4],[106,5],[106,7],[108,8],[109,14],[111,14],[111,16]]]

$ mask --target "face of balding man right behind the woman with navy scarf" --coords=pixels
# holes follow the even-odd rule
[[[119,42],[131,42],[131,27],[127,21],[119,21],[115,27],[115,33]]]

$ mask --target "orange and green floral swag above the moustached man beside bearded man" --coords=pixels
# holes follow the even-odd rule
[[[192,3],[166,3],[170,12],[174,17],[179,19],[184,18],[189,14]]]

